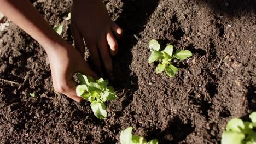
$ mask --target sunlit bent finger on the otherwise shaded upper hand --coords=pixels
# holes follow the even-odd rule
[[[117,55],[117,52],[118,52],[118,43],[117,43],[117,40],[115,40],[115,37],[114,35],[112,34],[112,32],[107,32],[107,35],[106,35],[106,39],[107,39],[107,42],[108,42],[108,45],[110,47],[110,53],[112,56],[115,56]]]

